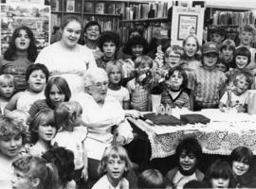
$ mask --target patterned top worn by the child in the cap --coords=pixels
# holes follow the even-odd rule
[[[194,91],[194,100],[203,107],[215,107],[220,101],[220,92],[227,77],[221,71],[204,66],[194,70],[189,86]]]

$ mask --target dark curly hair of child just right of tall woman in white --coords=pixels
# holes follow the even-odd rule
[[[119,34],[115,31],[105,31],[101,33],[101,37],[99,39],[99,47],[101,51],[103,51],[103,44],[104,43],[115,43],[116,45],[116,52],[119,50],[119,45],[120,45],[120,38]]]

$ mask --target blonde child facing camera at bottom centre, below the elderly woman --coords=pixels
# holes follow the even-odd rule
[[[101,179],[92,189],[117,188],[128,189],[129,182],[124,177],[131,169],[126,150],[122,146],[109,146],[105,149],[99,166]]]

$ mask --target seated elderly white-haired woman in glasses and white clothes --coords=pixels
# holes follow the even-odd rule
[[[84,93],[74,96],[82,105],[82,120],[88,127],[85,139],[88,155],[89,180],[98,180],[97,168],[104,149],[113,143],[125,145],[133,140],[132,128],[124,119],[124,111],[119,101],[106,95],[108,77],[101,68],[88,70],[83,76]],[[118,126],[117,137],[112,129]]]

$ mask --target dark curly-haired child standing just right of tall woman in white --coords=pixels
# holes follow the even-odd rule
[[[116,60],[116,53],[119,50],[119,34],[114,31],[105,31],[101,34],[99,47],[103,52],[101,61],[97,62],[98,67],[105,68],[109,60]]]

